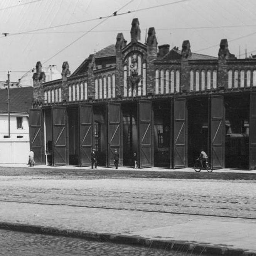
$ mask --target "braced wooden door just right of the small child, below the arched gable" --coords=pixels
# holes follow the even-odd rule
[[[139,167],[153,166],[153,115],[151,101],[138,102]]]

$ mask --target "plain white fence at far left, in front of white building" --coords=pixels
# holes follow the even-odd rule
[[[0,140],[0,163],[28,163],[29,140]]]

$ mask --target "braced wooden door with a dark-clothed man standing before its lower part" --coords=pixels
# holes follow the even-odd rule
[[[108,158],[107,166],[114,166],[114,150],[119,153],[119,164],[123,163],[123,151],[122,151],[122,112],[120,103],[109,102],[107,104],[107,120],[108,120]]]

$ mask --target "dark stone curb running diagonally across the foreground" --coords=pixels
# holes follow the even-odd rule
[[[88,239],[97,242],[130,244],[195,254],[212,254],[226,256],[256,256],[256,253],[243,249],[231,249],[224,246],[213,246],[204,243],[196,243],[178,240],[148,239],[141,236],[129,236],[122,234],[96,233],[71,229],[57,229],[28,224],[0,222],[0,229],[35,233],[41,235],[65,236],[79,239]]]

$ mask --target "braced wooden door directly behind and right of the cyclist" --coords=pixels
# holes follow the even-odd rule
[[[215,169],[224,168],[224,120],[223,96],[209,96],[209,153]]]

